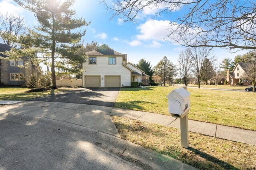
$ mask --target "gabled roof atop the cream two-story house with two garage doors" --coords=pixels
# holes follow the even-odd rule
[[[124,55],[122,53],[114,51],[113,49],[111,49],[105,44],[98,47],[96,50],[88,51],[85,54],[86,55]]]

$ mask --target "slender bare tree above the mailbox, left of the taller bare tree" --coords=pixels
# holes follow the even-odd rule
[[[188,82],[190,80],[190,74],[192,72],[190,56],[191,56],[191,48],[187,48],[184,51],[181,51],[181,53],[179,54],[179,59],[178,59],[179,76],[184,81],[185,86],[188,86]]]

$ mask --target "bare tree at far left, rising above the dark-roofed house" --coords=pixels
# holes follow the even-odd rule
[[[0,36],[4,44],[16,48],[18,44],[15,43],[15,39],[24,33],[24,30],[24,18],[8,13],[6,15],[0,14]]]

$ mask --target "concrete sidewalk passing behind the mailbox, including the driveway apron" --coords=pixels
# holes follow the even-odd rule
[[[10,102],[8,102],[8,104],[10,104]],[[19,106],[30,107],[26,107],[26,110],[24,110],[22,108],[19,108]],[[46,108],[38,111],[33,111],[34,108],[32,106],[41,106]],[[146,121],[149,123],[180,128],[180,119],[171,117],[169,115],[160,115],[156,113],[119,109],[114,107],[34,101],[14,103],[12,107],[14,108],[14,110],[9,111],[10,113],[28,112],[27,114],[35,116],[46,117],[50,119],[56,119],[82,125],[84,127],[89,127],[91,129],[96,129],[104,133],[114,135],[116,137],[120,137],[120,135],[118,134],[110,115],[127,117],[130,119]],[[49,109],[49,107],[54,108]],[[4,108],[5,107],[0,108],[0,113],[4,111]],[[100,122],[100,124],[98,122]],[[195,133],[200,133],[241,143],[247,143],[256,146],[256,131],[244,130],[235,127],[228,127],[193,120],[188,120],[188,130]]]

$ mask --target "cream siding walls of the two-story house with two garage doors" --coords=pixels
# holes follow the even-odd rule
[[[111,56],[110,56],[111,57]],[[98,56],[96,64],[83,63],[85,75],[100,75],[100,86],[105,87],[105,76],[121,76],[121,86],[131,86],[131,71],[122,66],[122,57],[116,57],[116,64],[108,64],[108,56]]]

